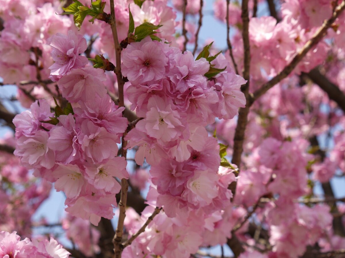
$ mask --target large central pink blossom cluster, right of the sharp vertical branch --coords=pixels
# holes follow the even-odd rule
[[[152,207],[146,209],[147,214],[155,206],[164,209],[152,229],[124,254],[189,257],[200,245],[214,244],[212,236],[225,243],[234,226],[230,222],[232,194],[227,188],[235,176],[233,170],[218,170],[219,145],[205,126],[216,117],[231,119],[244,107],[240,86],[245,80],[221,54],[211,65],[228,68],[208,80],[204,75],[210,64],[205,58],[195,61],[189,51],[181,53],[149,37],[128,45],[122,61],[131,108],[143,118],[125,139],[128,148],[138,147],[137,164],[146,158],[151,165],[147,200]],[[132,233],[140,225],[133,223],[128,221]]]

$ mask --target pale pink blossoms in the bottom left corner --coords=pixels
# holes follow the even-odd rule
[[[17,232],[0,232],[0,256],[3,258],[36,257],[36,258],[68,258],[70,253],[63,249],[54,238],[50,240],[20,240]]]

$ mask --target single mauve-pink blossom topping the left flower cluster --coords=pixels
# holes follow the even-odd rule
[[[66,75],[72,68],[84,67],[88,63],[85,56],[79,55],[87,49],[82,35],[76,35],[73,31],[68,31],[67,36],[57,33],[48,39],[48,44],[53,48],[51,56],[55,64],[49,69],[54,80]]]

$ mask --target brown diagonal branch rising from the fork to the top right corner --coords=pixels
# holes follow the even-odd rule
[[[269,80],[267,83],[263,84],[258,90],[256,90],[253,94],[253,98],[251,99],[251,102],[253,103],[256,99],[264,95],[267,90],[272,88],[274,85],[279,83],[281,80],[286,78],[293,69],[297,66],[297,64],[305,57],[305,55],[308,53],[309,50],[312,49],[312,47],[316,46],[317,43],[319,43],[323,37],[325,36],[327,29],[332,25],[332,23],[338,18],[338,16],[344,11],[345,9],[345,1],[342,1],[341,4],[339,4],[336,8],[334,13],[332,14],[332,17],[328,20],[324,21],[322,26],[317,30],[317,32],[314,34],[314,36],[303,46],[303,48],[295,55],[293,60],[285,66],[285,68],[278,73],[275,77],[273,77],[271,80]]]

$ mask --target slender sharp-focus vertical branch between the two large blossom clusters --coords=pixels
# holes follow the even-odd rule
[[[119,107],[124,107],[125,106],[125,103],[124,103],[125,82],[122,78],[122,73],[121,73],[121,47],[119,44],[119,39],[118,39],[117,29],[116,29],[114,0],[110,0],[110,22],[109,23],[110,23],[112,37],[113,37],[114,46],[115,46],[116,67],[115,67],[114,72],[116,74],[117,84],[118,84]],[[125,133],[121,138],[121,142],[122,142],[121,155],[122,157],[126,159],[127,150],[125,149],[125,147],[127,145],[127,141],[125,141]],[[119,221],[117,223],[117,228],[116,228],[115,235],[113,238],[114,251],[115,251],[116,258],[121,257],[122,250],[124,248],[121,241],[122,241],[122,234],[124,230],[124,221],[126,217],[127,192],[128,192],[128,182],[126,179],[121,179],[121,198],[118,204]]]

